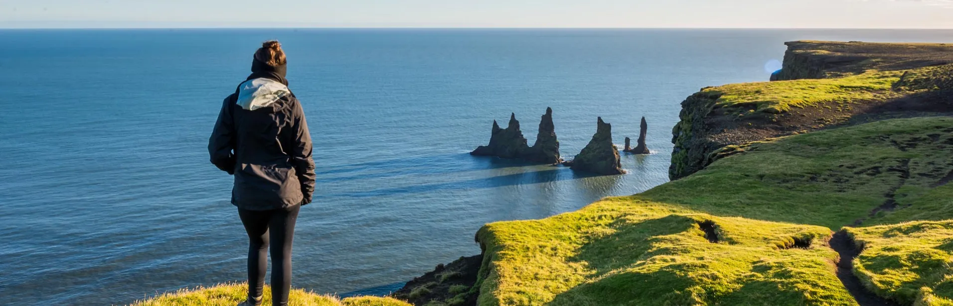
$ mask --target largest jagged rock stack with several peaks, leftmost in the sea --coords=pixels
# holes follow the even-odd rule
[[[546,107],[546,114],[539,122],[537,141],[533,146],[526,144],[526,138],[519,129],[519,122],[515,113],[510,114],[510,123],[506,128],[499,128],[497,121],[493,122],[490,143],[480,145],[471,155],[496,156],[504,159],[521,159],[533,163],[561,163],[559,157],[559,142],[556,137],[556,127],[553,124],[553,109]]]

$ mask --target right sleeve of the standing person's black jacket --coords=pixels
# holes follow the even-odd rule
[[[311,133],[308,131],[308,122],[304,118],[304,109],[300,103],[294,104],[292,117],[291,160],[298,182],[301,182],[304,203],[307,204],[312,201],[314,195],[314,159],[311,156]]]

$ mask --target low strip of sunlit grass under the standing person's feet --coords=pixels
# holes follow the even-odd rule
[[[221,284],[155,296],[132,303],[131,306],[235,306],[247,296],[247,284]],[[335,296],[322,296],[300,289],[292,290],[288,302],[291,306],[411,306],[407,302],[389,297],[361,296],[342,300]],[[262,305],[271,304],[272,290],[266,286]]]

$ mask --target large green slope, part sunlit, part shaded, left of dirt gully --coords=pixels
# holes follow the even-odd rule
[[[488,224],[479,304],[856,305],[831,229],[923,215],[948,192],[951,132],[933,117],[752,143],[636,196]]]

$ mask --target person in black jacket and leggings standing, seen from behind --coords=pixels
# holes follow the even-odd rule
[[[314,194],[311,134],[288,88],[287,64],[281,44],[262,44],[209,139],[212,163],[234,176],[232,204],[249,238],[248,299],[239,306],[261,305],[270,245],[272,305],[288,305],[294,223]]]

